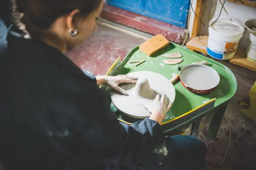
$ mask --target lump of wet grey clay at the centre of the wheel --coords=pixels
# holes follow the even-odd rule
[[[147,99],[156,96],[156,92],[150,87],[148,79],[146,78],[140,78],[137,80],[133,94],[134,96]]]

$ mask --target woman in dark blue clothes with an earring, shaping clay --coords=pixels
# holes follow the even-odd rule
[[[120,123],[98,85],[120,93],[127,76],[85,75],[64,53],[97,28],[104,0],[15,0],[15,25],[0,48],[0,160],[6,170],[203,170],[206,147],[192,136],[165,139],[171,105]],[[162,141],[162,142],[161,142]]]

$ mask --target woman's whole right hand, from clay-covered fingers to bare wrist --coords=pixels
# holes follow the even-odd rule
[[[161,97],[159,94],[157,94],[152,105],[142,103],[148,112],[151,113],[149,119],[155,120],[161,124],[165,119],[166,114],[172,107],[172,102],[167,103],[167,101],[168,98],[165,94],[163,94]]]

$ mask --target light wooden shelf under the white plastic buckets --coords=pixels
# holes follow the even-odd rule
[[[186,47],[188,47],[192,51],[198,51],[198,52],[207,54],[207,42],[208,42],[208,36],[198,36],[190,40],[186,44]],[[246,68],[250,71],[256,72],[256,62],[251,62],[246,58],[245,49],[238,48],[235,56],[232,59],[230,59],[229,62],[234,65],[238,65],[242,68]]]

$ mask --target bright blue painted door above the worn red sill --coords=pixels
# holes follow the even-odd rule
[[[189,0],[108,0],[108,4],[186,28]]]

